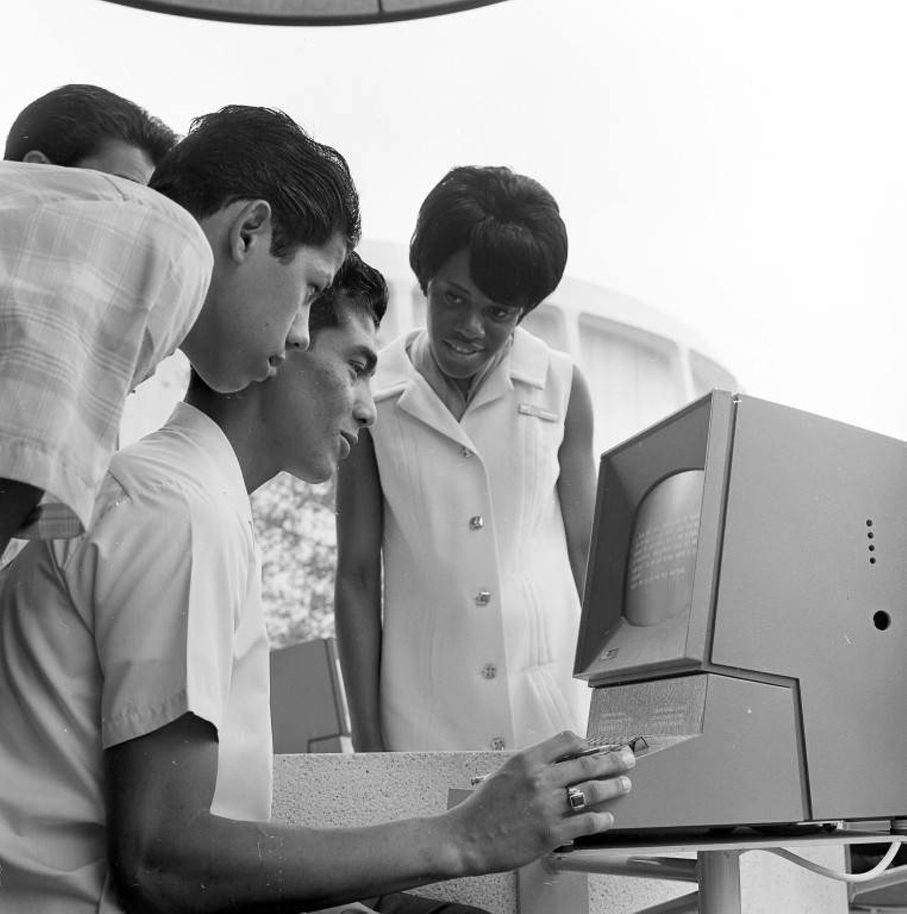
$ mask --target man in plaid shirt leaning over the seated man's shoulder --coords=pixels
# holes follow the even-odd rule
[[[177,346],[228,392],[307,345],[359,236],[343,157],[283,112],[197,119],[151,187],[0,163],[0,553],[82,532],[124,399]]]

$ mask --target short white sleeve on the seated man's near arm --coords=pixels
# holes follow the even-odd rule
[[[104,749],[187,712],[220,728],[251,548],[235,516],[173,484],[96,520],[65,574],[93,615]]]

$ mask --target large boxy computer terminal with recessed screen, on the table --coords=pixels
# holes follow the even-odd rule
[[[574,674],[618,830],[907,816],[907,445],[713,391],[602,456]]]

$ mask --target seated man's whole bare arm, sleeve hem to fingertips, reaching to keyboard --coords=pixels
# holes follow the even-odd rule
[[[565,788],[591,804],[624,793],[626,756],[558,761],[586,746],[560,734],[507,760],[448,813],[357,829],[239,822],[210,813],[215,729],[191,714],[104,753],[108,856],[131,911],[298,911],[451,877],[523,866],[611,827],[601,809],[569,813]]]

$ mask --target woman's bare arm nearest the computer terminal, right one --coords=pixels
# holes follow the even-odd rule
[[[567,416],[564,419],[564,438],[558,452],[558,495],[573,579],[581,600],[592,540],[592,515],[595,511],[592,427],[592,397],[580,369],[574,367]]]

